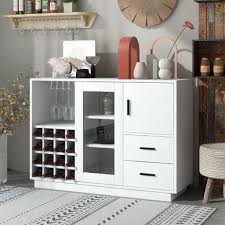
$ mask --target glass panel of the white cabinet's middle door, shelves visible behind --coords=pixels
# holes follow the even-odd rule
[[[114,93],[83,94],[83,172],[114,175]]]

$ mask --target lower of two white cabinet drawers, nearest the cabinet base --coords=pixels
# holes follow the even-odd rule
[[[173,165],[124,162],[124,185],[157,190],[173,190]]]

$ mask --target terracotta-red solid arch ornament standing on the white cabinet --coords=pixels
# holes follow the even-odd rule
[[[139,43],[136,37],[123,37],[120,39],[118,49],[118,78],[134,78],[134,68],[139,62]]]

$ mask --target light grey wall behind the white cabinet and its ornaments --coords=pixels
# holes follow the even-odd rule
[[[12,1],[0,0],[0,15],[8,14]],[[120,12],[118,0],[82,0],[82,10],[96,11],[97,21],[90,30],[82,30],[76,39],[95,39],[97,52],[103,59],[98,66],[98,76],[112,77],[117,74],[117,49],[122,36],[136,36],[140,42],[141,60],[146,60],[151,42],[158,36],[168,34],[175,37],[186,20],[198,27],[198,5],[190,0],[178,0],[174,14],[163,24],[150,29],[140,28],[129,22]],[[192,39],[197,38],[197,30],[187,31],[178,46],[180,76],[192,76]],[[25,32],[19,34],[10,30],[7,23],[0,19],[0,81],[14,78],[29,66],[49,74],[46,65],[50,56],[62,55],[62,41],[72,39],[70,32]],[[168,47],[163,44],[156,48],[157,56],[167,55]],[[9,138],[8,164],[12,169],[27,171],[29,167],[28,126],[17,130]]]

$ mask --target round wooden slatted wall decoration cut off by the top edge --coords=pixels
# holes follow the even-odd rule
[[[177,0],[118,0],[124,16],[141,27],[152,27],[167,20]]]

